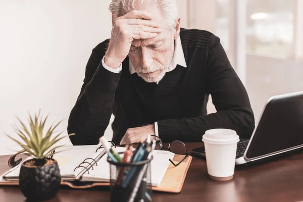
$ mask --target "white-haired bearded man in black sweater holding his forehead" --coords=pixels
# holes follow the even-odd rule
[[[181,29],[174,0],[113,0],[110,11],[111,38],[92,50],[69,117],[74,145],[98,144],[112,114],[116,144],[148,134],[201,141],[212,128],[251,136],[247,92],[217,36]],[[213,114],[206,111],[209,94]]]

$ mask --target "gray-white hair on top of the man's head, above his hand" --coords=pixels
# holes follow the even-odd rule
[[[113,16],[123,16],[130,11],[157,5],[161,10],[168,27],[176,27],[178,10],[175,0],[112,0],[110,11]]]

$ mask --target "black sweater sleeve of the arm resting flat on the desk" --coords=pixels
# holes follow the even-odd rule
[[[215,35],[210,39],[207,57],[206,86],[217,112],[158,121],[159,137],[163,141],[201,141],[205,131],[213,128],[233,129],[240,138],[250,138],[254,131],[255,118],[246,89]]]

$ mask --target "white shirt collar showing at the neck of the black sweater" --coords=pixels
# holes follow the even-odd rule
[[[187,67],[180,36],[177,38],[177,40],[175,40],[174,55],[173,55],[171,66],[170,66],[170,68],[167,69],[167,72],[174,70],[177,65],[180,65],[182,67]],[[136,73],[136,70],[135,70],[134,66],[131,64],[130,60],[129,60],[129,72],[131,74]]]

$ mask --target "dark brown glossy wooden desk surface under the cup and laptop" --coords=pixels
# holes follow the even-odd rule
[[[187,142],[188,151],[203,143]],[[190,153],[191,154],[191,153]],[[0,172],[7,170],[9,156],[0,157]],[[109,187],[90,190],[61,188],[50,201],[110,201]],[[206,161],[193,157],[183,189],[178,194],[154,192],[154,201],[303,201],[303,154],[246,168],[236,168],[226,182],[207,177]],[[0,201],[25,201],[18,187],[0,186]]]

